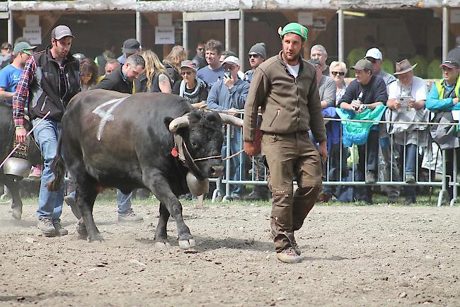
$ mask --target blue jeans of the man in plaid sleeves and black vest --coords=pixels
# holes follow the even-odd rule
[[[35,127],[40,121],[40,118],[33,120]],[[35,127],[33,135],[35,141],[40,146],[43,157],[43,172],[42,180],[40,183],[40,194],[38,195],[38,219],[50,218],[53,221],[58,221],[62,213],[62,202],[64,202],[64,183],[62,188],[56,192],[50,192],[45,186],[48,182],[54,179],[50,166],[52,159],[56,156],[57,151],[57,137],[61,124],[54,120],[43,120],[38,126]]]

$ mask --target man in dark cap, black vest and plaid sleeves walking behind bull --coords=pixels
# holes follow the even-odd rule
[[[46,50],[29,57],[21,79],[13,95],[13,119],[16,126],[16,141],[25,141],[24,107],[28,103],[28,114],[35,130],[44,168],[38,197],[38,228],[44,236],[63,236],[68,231],[62,228],[60,216],[64,202],[64,185],[57,192],[45,186],[54,179],[50,169],[56,155],[57,139],[62,115],[69,100],[79,93],[79,61],[70,54],[74,35],[67,25],[58,25],[51,32],[51,45]],[[40,120],[50,112],[50,115]]]

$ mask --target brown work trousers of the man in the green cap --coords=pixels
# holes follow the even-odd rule
[[[270,227],[277,252],[295,242],[294,231],[304,224],[321,191],[321,158],[307,132],[263,134],[262,152],[270,169],[272,191]],[[294,192],[292,179],[299,188]]]

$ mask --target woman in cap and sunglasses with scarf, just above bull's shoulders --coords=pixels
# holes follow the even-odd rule
[[[188,98],[190,103],[201,103],[207,99],[207,85],[205,81],[197,78],[195,62],[185,60],[180,64],[180,76],[182,81],[176,82],[173,94]]]

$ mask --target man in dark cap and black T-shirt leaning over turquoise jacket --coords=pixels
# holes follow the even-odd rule
[[[354,111],[359,114],[366,109],[374,110],[378,105],[385,105],[388,100],[386,84],[380,76],[372,74],[372,62],[368,59],[360,59],[355,66],[356,79],[351,81],[345,90],[345,94],[340,98],[340,108]],[[358,146],[360,162],[358,169],[365,175],[366,183],[376,183],[376,175],[379,170],[379,129],[377,125],[372,126],[367,137],[367,146]],[[367,160],[367,161],[366,161]],[[372,189],[366,187],[367,192],[363,199],[367,203],[372,203]]]

